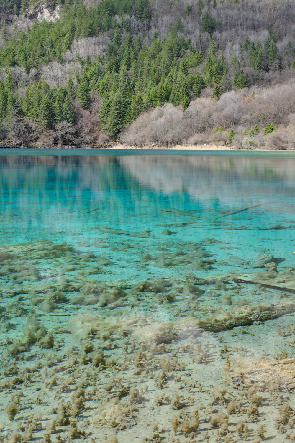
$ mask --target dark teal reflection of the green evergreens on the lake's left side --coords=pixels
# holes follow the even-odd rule
[[[161,195],[139,184],[114,156],[0,156],[0,169],[0,202],[7,223],[24,214],[28,226],[53,220],[67,232],[69,223],[79,230],[94,221],[126,228],[144,211],[144,229],[160,206]],[[171,205],[178,204],[174,196]]]

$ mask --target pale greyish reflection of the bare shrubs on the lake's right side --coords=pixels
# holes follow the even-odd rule
[[[145,186],[165,193],[185,190],[198,199],[218,198],[227,202],[232,197],[247,198],[251,192],[272,194],[271,186],[293,193],[295,159],[266,159],[231,156],[169,156],[165,161],[156,156],[121,157],[120,164]]]

